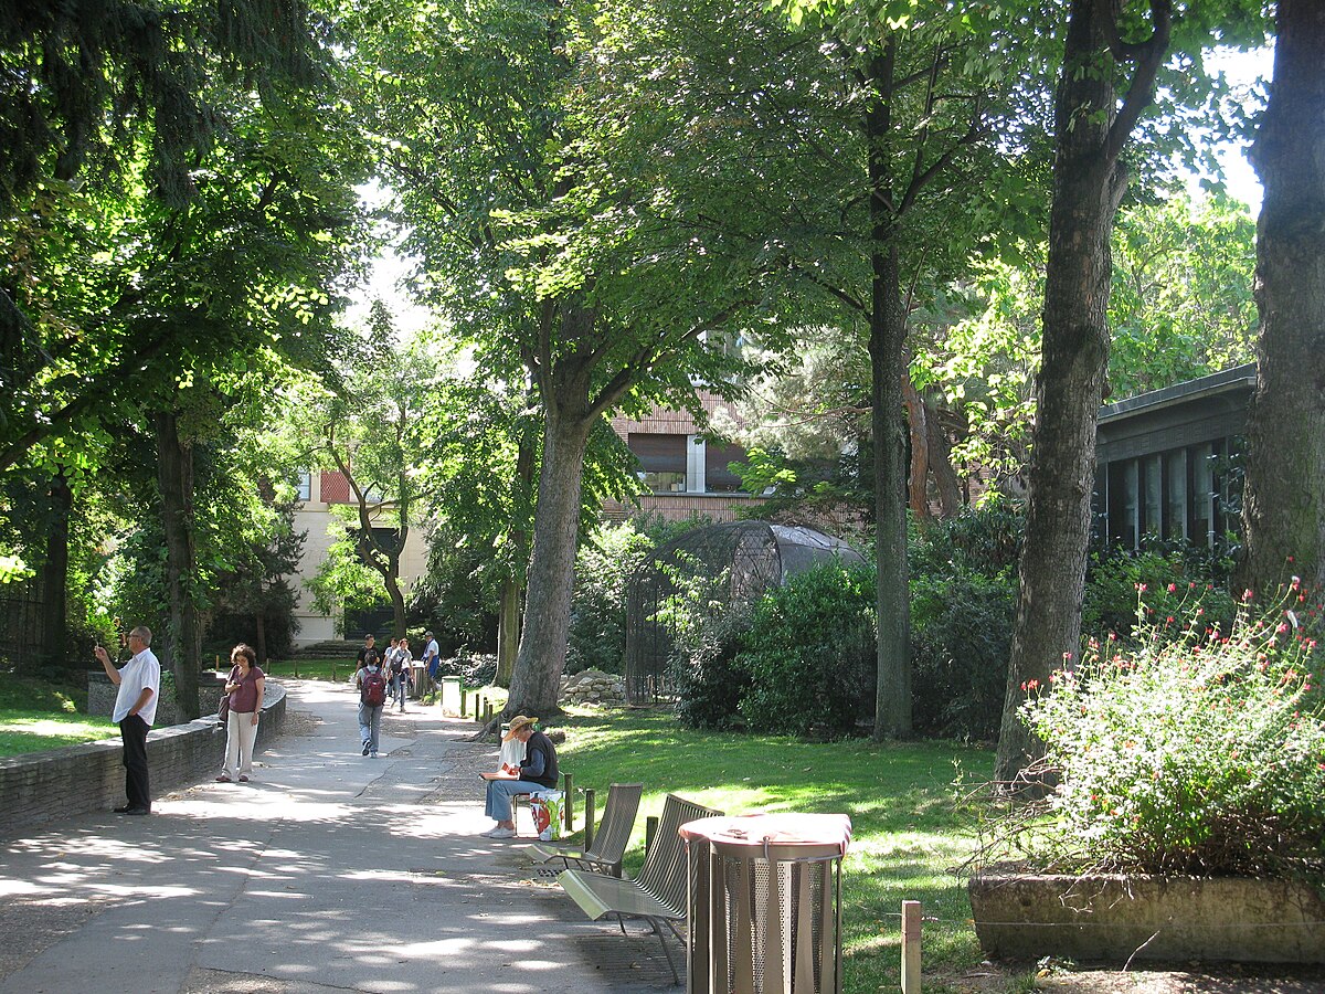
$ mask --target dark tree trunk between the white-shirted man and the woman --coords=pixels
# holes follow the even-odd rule
[[[156,477],[162,492],[166,529],[166,588],[171,612],[171,663],[180,716],[196,718],[197,676],[201,671],[203,632],[193,603],[196,575],[193,545],[193,447],[179,437],[174,411],[156,415]]]

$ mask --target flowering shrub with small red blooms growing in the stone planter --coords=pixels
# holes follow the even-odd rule
[[[1325,876],[1318,612],[1296,580],[1267,611],[1244,598],[1227,632],[1199,603],[1179,622],[1142,602],[1136,648],[1092,643],[1028,688],[1056,781],[1037,848],[1076,869]]]

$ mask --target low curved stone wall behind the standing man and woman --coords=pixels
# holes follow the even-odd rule
[[[109,683],[109,681],[107,681]],[[261,749],[285,726],[285,688],[270,680],[257,728]],[[213,775],[224,762],[225,729],[216,714],[147,734],[152,795]],[[0,838],[9,839],[53,822],[125,803],[123,746],[119,738],[0,758]]]

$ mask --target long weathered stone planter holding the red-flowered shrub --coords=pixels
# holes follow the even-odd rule
[[[992,957],[1325,964],[1325,900],[1287,880],[992,873],[967,889]]]

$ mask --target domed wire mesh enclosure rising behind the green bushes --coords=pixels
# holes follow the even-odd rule
[[[702,598],[721,611],[832,559],[864,562],[840,538],[767,521],[698,527],[659,546],[627,584],[627,698],[647,704],[672,692],[669,659],[678,619],[670,608],[677,600]]]

